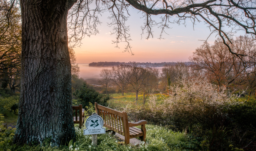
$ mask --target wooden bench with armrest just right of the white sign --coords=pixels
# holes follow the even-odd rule
[[[141,120],[136,123],[128,122],[126,112],[120,112],[108,107],[99,105],[95,102],[95,110],[103,119],[103,126],[107,127],[114,133],[119,133],[124,136],[124,143],[129,144],[131,138],[140,137],[141,141],[145,141],[147,121]],[[139,126],[141,128],[133,127]]]

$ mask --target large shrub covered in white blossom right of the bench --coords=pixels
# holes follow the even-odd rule
[[[170,97],[157,101],[155,95],[147,106],[127,105],[124,109],[132,121],[146,119],[149,123],[169,125],[185,129],[188,124],[202,124],[205,128],[221,126],[228,118],[225,110],[231,105],[241,104],[236,95],[227,95],[221,88],[218,92],[206,79],[183,78],[170,87]]]

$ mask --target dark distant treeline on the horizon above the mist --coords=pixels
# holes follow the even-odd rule
[[[118,66],[121,64],[128,64],[132,65],[132,63],[135,62],[92,62],[89,63],[89,66],[91,67],[112,67],[112,66]],[[161,62],[161,63],[151,63],[151,62],[136,62],[139,66],[149,66],[149,67],[163,67],[165,64],[172,64],[175,65],[176,62]],[[186,65],[192,64],[192,62],[184,62]]]

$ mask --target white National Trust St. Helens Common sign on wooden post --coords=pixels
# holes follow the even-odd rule
[[[97,113],[93,113],[86,119],[85,126],[84,135],[92,135],[92,145],[97,146],[97,134],[106,133],[106,129],[103,128],[103,119]]]

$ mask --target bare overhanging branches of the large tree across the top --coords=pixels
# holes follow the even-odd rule
[[[254,0],[82,0],[75,3],[69,11],[68,27],[73,33],[73,36],[69,37],[70,42],[77,42],[85,35],[98,33],[97,24],[100,21],[95,14],[110,11],[109,18],[112,22],[109,26],[113,27],[112,34],[116,35],[113,43],[125,41],[127,43],[125,50],[130,51],[129,26],[125,23],[131,7],[142,12],[145,20],[142,33],[147,34],[147,39],[153,37],[152,26],[162,29],[159,36],[161,39],[172,23],[186,25],[186,21],[189,20],[196,25],[197,22],[203,21],[211,30],[211,34],[219,34],[232,54],[239,55],[228,46],[232,43],[234,34],[243,30],[254,38],[256,36],[256,2]],[[154,20],[152,15],[158,15],[160,21]]]

